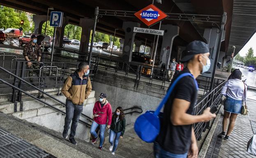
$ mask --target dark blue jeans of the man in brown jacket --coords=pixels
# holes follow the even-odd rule
[[[65,124],[64,124],[64,133],[69,131],[69,124],[71,123],[71,131],[69,137],[74,137],[76,135],[76,127],[78,124],[78,120],[80,114],[83,112],[83,104],[82,105],[75,105],[70,100],[66,100],[66,117],[65,117]]]

